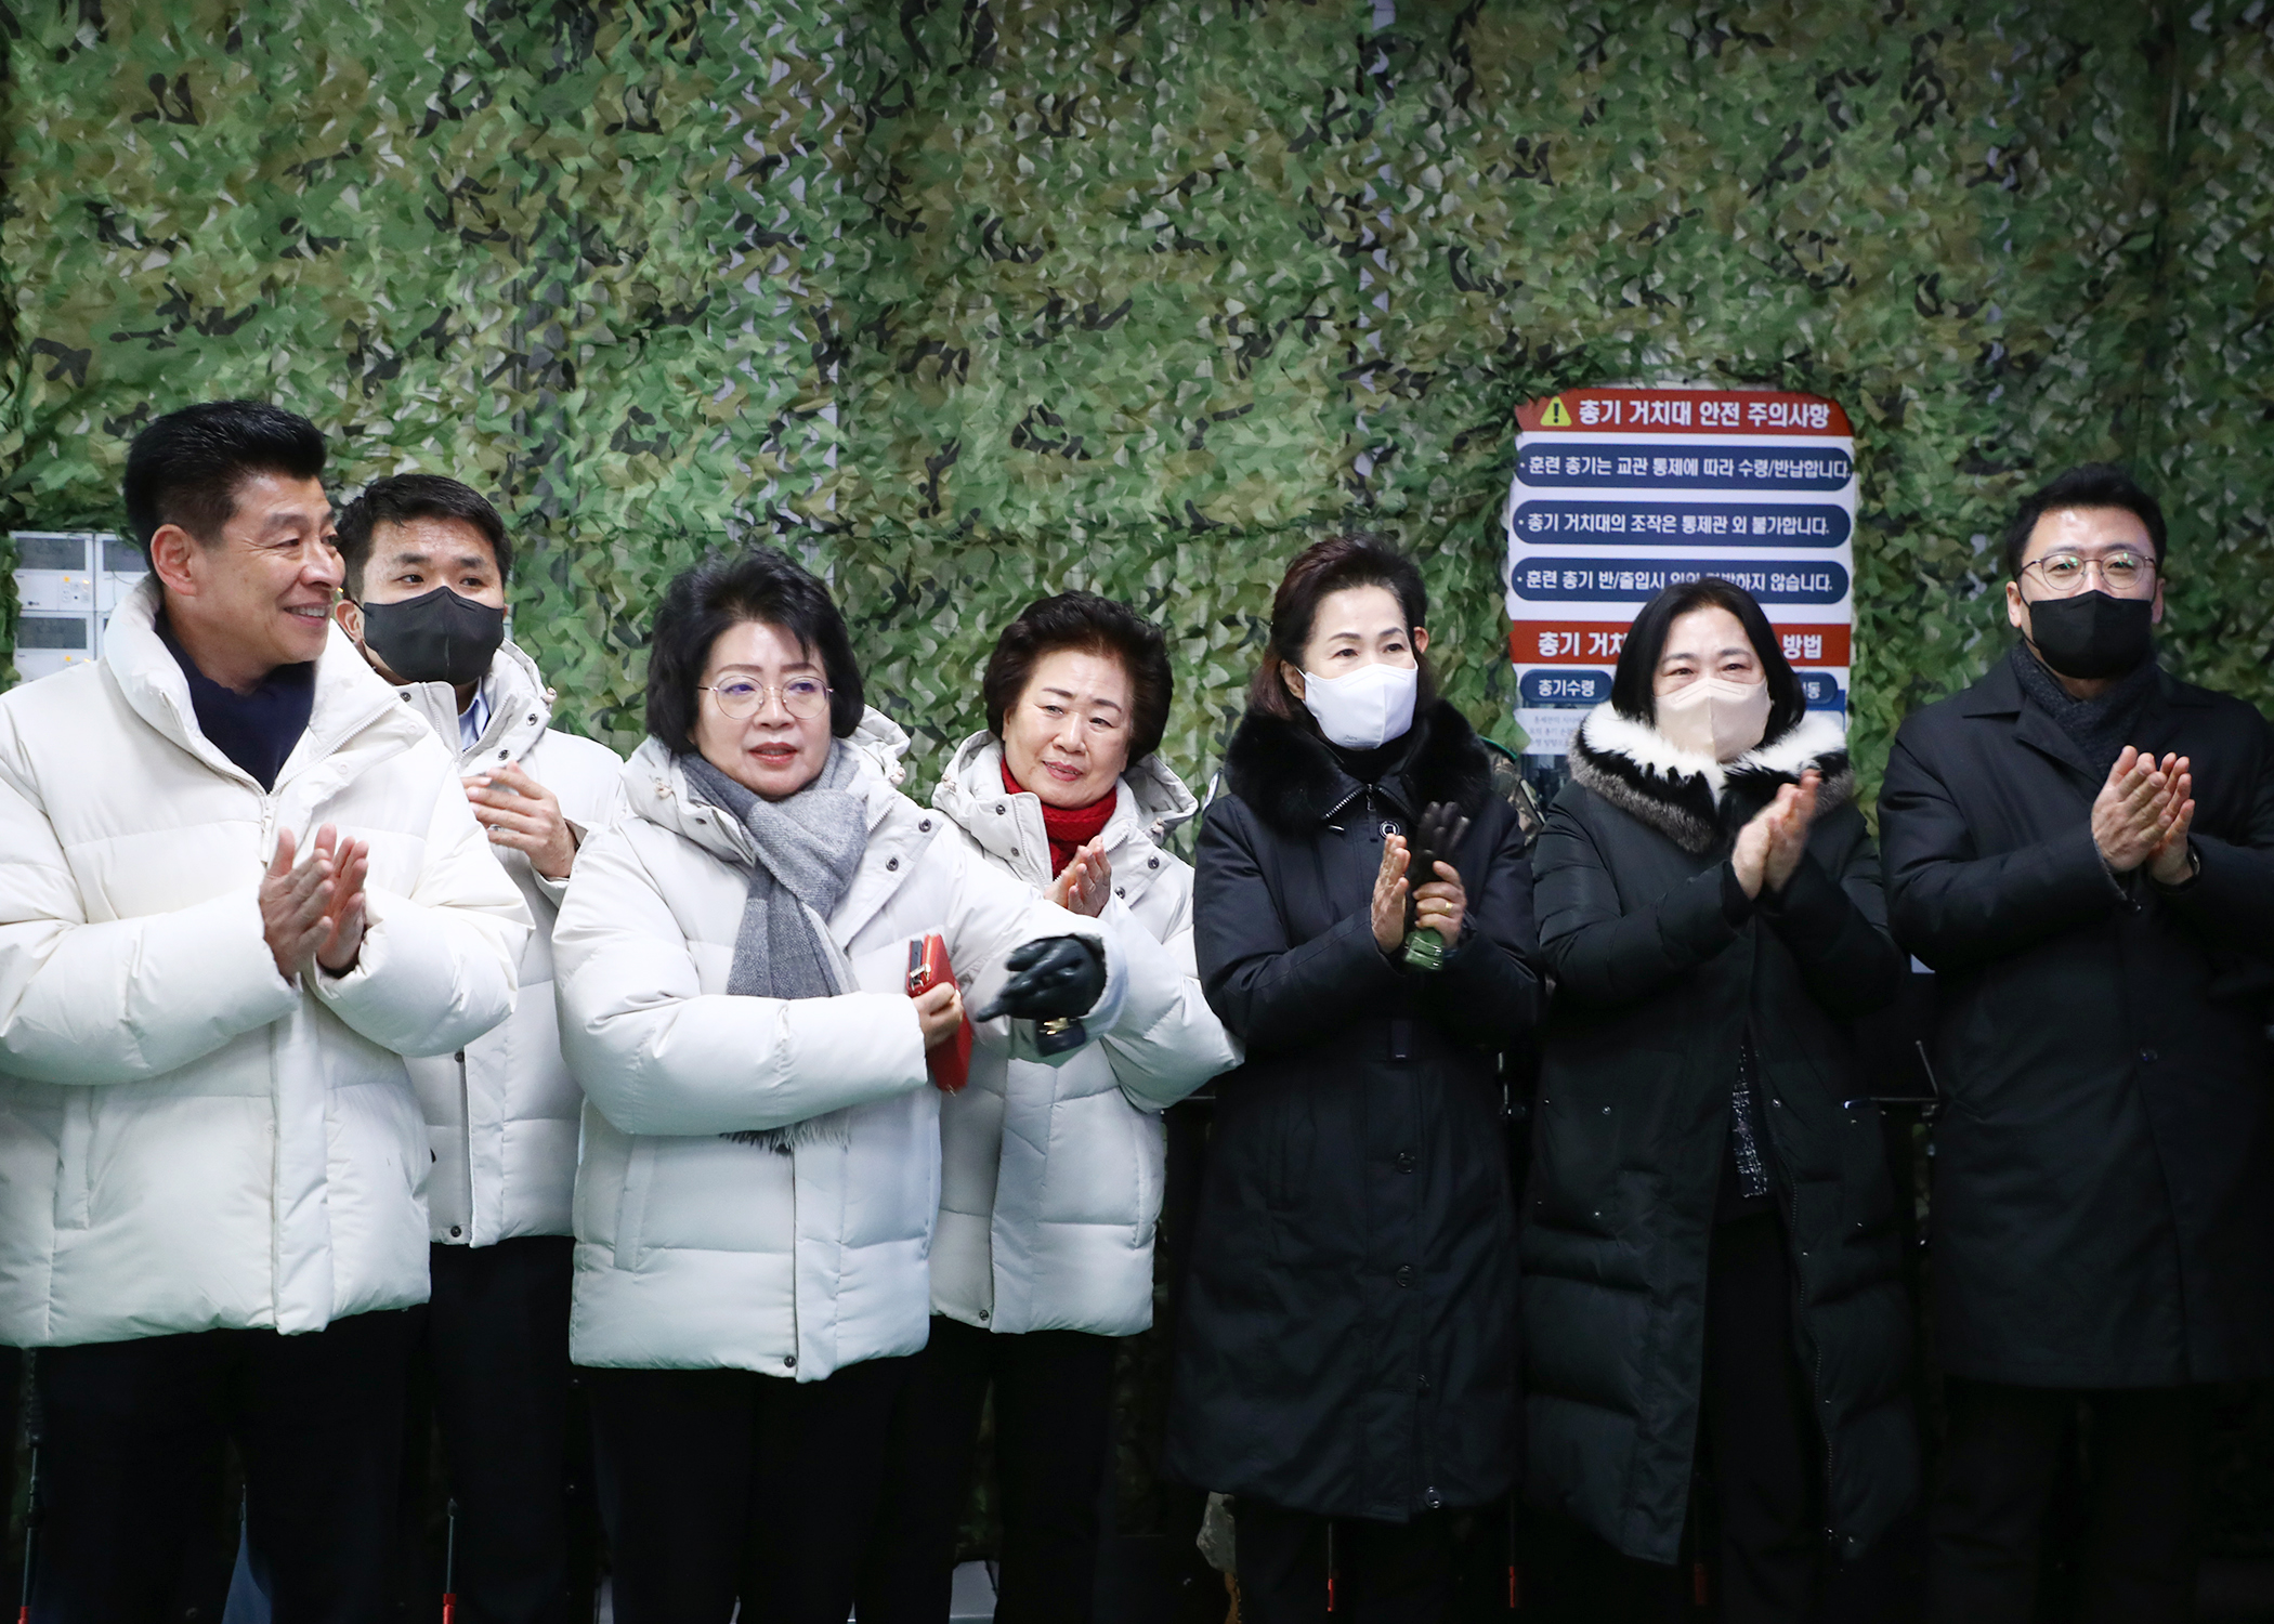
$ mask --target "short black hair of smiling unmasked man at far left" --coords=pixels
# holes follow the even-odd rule
[[[207,400],[168,412],[127,446],[127,530],[143,553],[161,525],[214,546],[236,512],[236,487],[262,473],[323,478],[323,432],[266,400]]]

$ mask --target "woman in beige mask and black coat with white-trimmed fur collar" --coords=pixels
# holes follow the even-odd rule
[[[1753,598],[1669,587],[1533,853],[1555,978],[1524,1217],[1535,1503],[1806,1619],[1906,1508],[1901,1242],[1849,1019],[1903,973],[1846,741]],[[1605,1613],[1605,1617],[1610,1617]]]

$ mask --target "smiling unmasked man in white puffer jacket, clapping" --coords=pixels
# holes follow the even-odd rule
[[[127,455],[150,578],[0,696],[0,1342],[39,1349],[41,1619],[157,1619],[227,1517],[277,1617],[377,1619],[428,1296],[402,1055],[514,1008],[457,762],[330,623],[323,437]]]

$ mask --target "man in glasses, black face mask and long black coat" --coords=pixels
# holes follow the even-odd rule
[[[2017,646],[1881,792],[1887,917],[1937,971],[1935,1619],[2033,1615],[2081,1410],[2081,1617],[2192,1617],[2197,1397],[2274,1374],[2274,730],[2156,664],[2163,562],[2122,471],[2031,496]]]

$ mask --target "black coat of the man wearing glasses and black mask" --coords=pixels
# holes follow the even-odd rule
[[[2106,771],[2006,662],[1887,762],[1890,919],[1937,971],[1931,1267],[1958,1376],[2274,1376],[2274,730],[2163,676],[2131,732],[2192,757],[2204,867],[2174,892],[2101,864]]]

